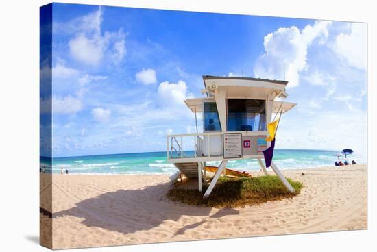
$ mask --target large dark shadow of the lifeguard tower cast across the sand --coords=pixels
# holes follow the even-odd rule
[[[212,208],[173,203],[165,199],[169,188],[171,184],[158,184],[139,190],[106,192],[98,197],[84,199],[68,210],[55,212],[53,218],[75,216],[84,219],[81,223],[88,227],[101,227],[123,234],[149,230],[158,227],[165,220],[177,221],[182,216],[203,218],[180,228],[175,232],[178,235],[206,223],[208,218],[239,214],[237,210],[224,208],[209,216]]]

